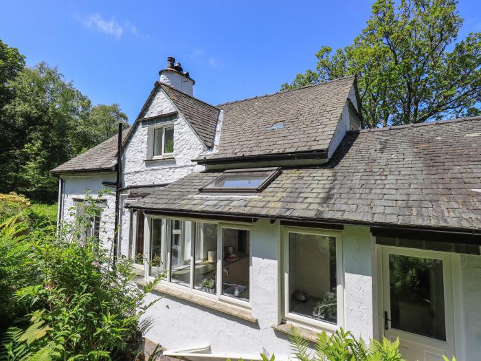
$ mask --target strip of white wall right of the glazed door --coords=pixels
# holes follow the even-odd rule
[[[480,360],[481,256],[461,256],[461,279],[465,344],[460,346],[465,347],[466,361]]]

